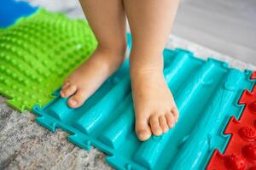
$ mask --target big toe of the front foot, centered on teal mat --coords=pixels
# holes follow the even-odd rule
[[[148,120],[146,119],[146,117],[137,117],[135,128],[138,139],[140,139],[141,141],[145,141],[150,138],[151,130],[148,126]]]

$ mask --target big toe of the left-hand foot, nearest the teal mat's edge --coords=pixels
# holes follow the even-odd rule
[[[71,108],[78,108],[79,106],[84,104],[84,101],[87,98],[88,97],[85,94],[84,90],[78,89],[78,91],[67,100],[67,105],[69,105],[69,107]]]

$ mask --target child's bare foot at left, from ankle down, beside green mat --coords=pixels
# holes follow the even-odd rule
[[[67,104],[72,108],[83,105],[84,101],[102,85],[102,82],[119,68],[125,59],[124,54],[125,48],[116,51],[97,48],[90,59],[67,77],[61,88],[61,97],[71,96]]]

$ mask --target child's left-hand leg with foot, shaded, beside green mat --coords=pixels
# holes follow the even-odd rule
[[[126,48],[122,1],[81,0],[80,3],[96,35],[98,47],[62,86],[61,97],[71,96],[67,103],[73,108],[82,105],[119,68]]]

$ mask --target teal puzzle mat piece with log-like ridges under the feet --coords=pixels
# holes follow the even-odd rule
[[[198,59],[182,49],[166,49],[164,58],[180,117],[160,137],[137,139],[127,62],[78,109],[70,109],[55,91],[55,99],[33,108],[36,121],[52,132],[55,127],[67,131],[68,139],[85,150],[91,145],[102,150],[118,169],[202,169],[213,150],[224,151],[230,139],[223,135],[224,127],[230,116],[241,115],[237,101],[245,88],[253,88],[251,71]]]

